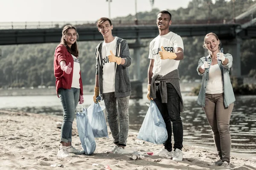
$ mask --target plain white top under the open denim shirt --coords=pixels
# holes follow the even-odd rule
[[[207,94],[221,94],[224,92],[221,68],[218,64],[211,65],[209,68],[209,79],[207,81],[205,90]]]

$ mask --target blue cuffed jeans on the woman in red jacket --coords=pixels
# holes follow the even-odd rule
[[[63,123],[61,126],[61,142],[71,142],[72,125],[75,118],[76,106],[79,101],[79,88],[59,88],[58,96],[63,109]]]

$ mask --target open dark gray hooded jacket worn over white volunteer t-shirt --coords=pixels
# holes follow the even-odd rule
[[[96,57],[96,75],[99,75],[99,94],[102,97],[103,91],[103,67],[102,67],[102,41],[97,45],[95,49],[95,57]],[[115,63],[115,96],[116,97],[127,97],[131,95],[131,83],[129,79],[128,66],[131,65],[130,51],[128,47],[128,43],[126,40],[117,37],[116,43],[116,57],[121,57],[125,59],[124,65],[117,65]]]

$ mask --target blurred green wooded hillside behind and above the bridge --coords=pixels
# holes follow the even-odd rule
[[[187,8],[169,10],[172,14],[172,23],[175,20],[231,20],[234,16],[246,11],[255,2],[252,0],[225,1],[217,0],[192,0]],[[235,7],[235,11],[234,11]],[[149,12],[139,12],[138,20],[156,20],[160,9],[154,8]],[[235,13],[236,12],[236,13]],[[249,16],[252,17],[252,16]],[[113,21],[131,21],[134,15],[117,17]],[[96,27],[96,26],[95,26]],[[157,27],[157,25],[156,25]],[[170,26],[172,31],[172,26]],[[206,50],[202,47],[204,37],[182,37],[184,43],[184,59],[179,65],[180,78],[187,80],[201,79],[196,72],[198,59],[205,56]],[[102,38],[103,40],[103,38]],[[143,39],[142,42],[148,47],[152,39]],[[134,40],[128,40],[133,42]],[[81,76],[84,85],[95,82],[95,55],[96,45],[101,41],[79,42],[79,61]],[[2,45],[0,57],[0,88],[6,87],[29,87],[29,86],[54,86],[53,74],[54,51],[58,43],[35,44],[35,45]],[[241,74],[256,78],[256,40],[243,40],[241,44]],[[148,49],[141,48],[140,71],[143,82],[147,82],[147,70],[149,65]],[[131,58],[133,49],[130,50]],[[132,62],[129,68],[130,78],[135,74]]]

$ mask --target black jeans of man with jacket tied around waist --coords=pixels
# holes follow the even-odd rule
[[[172,130],[174,137],[173,148],[182,149],[183,145],[183,125],[180,118],[180,96],[170,83],[166,83],[167,86],[167,103],[162,103],[159,84],[157,83],[156,99],[154,102],[157,104],[157,108],[161,112],[164,122],[166,123],[166,130],[168,138],[163,144],[165,149],[169,152],[172,151]],[[171,123],[172,122],[172,123]],[[173,128],[172,128],[173,127]]]

